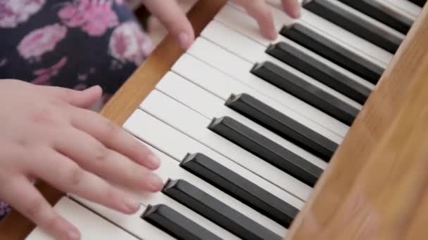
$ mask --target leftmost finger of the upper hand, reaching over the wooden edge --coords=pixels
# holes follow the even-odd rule
[[[176,1],[144,1],[146,8],[156,16],[179,41],[183,49],[189,48],[194,41],[194,30]]]

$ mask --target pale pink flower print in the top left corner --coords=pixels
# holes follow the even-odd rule
[[[45,0],[0,0],[0,27],[16,27],[37,13]]]

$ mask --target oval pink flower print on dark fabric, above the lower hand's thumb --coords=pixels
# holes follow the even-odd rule
[[[52,51],[59,41],[64,39],[67,27],[58,23],[35,29],[20,41],[18,52],[25,59],[39,58]]]

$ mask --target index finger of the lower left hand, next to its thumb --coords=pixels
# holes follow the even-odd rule
[[[96,112],[73,107],[70,119],[75,128],[92,135],[106,147],[120,152],[138,164],[151,169],[157,168],[156,165],[160,164],[160,159],[147,147],[141,145],[130,133]],[[149,164],[149,162],[151,163]]]

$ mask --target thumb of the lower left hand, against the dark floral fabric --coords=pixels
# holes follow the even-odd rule
[[[101,98],[103,93],[100,86],[92,86],[83,91],[59,87],[51,87],[45,90],[49,92],[48,94],[53,95],[54,98],[68,102],[75,107],[82,108],[92,107],[92,105]]]

